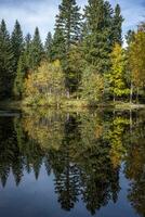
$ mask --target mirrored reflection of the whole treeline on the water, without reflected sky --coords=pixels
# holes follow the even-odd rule
[[[137,113],[136,113],[137,114]],[[62,209],[81,200],[90,214],[117,203],[121,163],[130,180],[128,200],[145,216],[144,113],[47,112],[0,118],[0,179],[12,171],[16,186],[25,173],[39,179],[44,165],[54,175]]]

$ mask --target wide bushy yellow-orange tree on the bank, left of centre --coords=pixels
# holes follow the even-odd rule
[[[56,105],[65,95],[65,78],[60,61],[43,62],[25,81],[25,102],[38,105]],[[28,103],[28,104],[29,104]]]

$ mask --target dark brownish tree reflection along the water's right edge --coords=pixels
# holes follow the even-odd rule
[[[137,214],[145,216],[145,117],[137,115],[130,135],[124,173],[131,181],[128,199]]]

